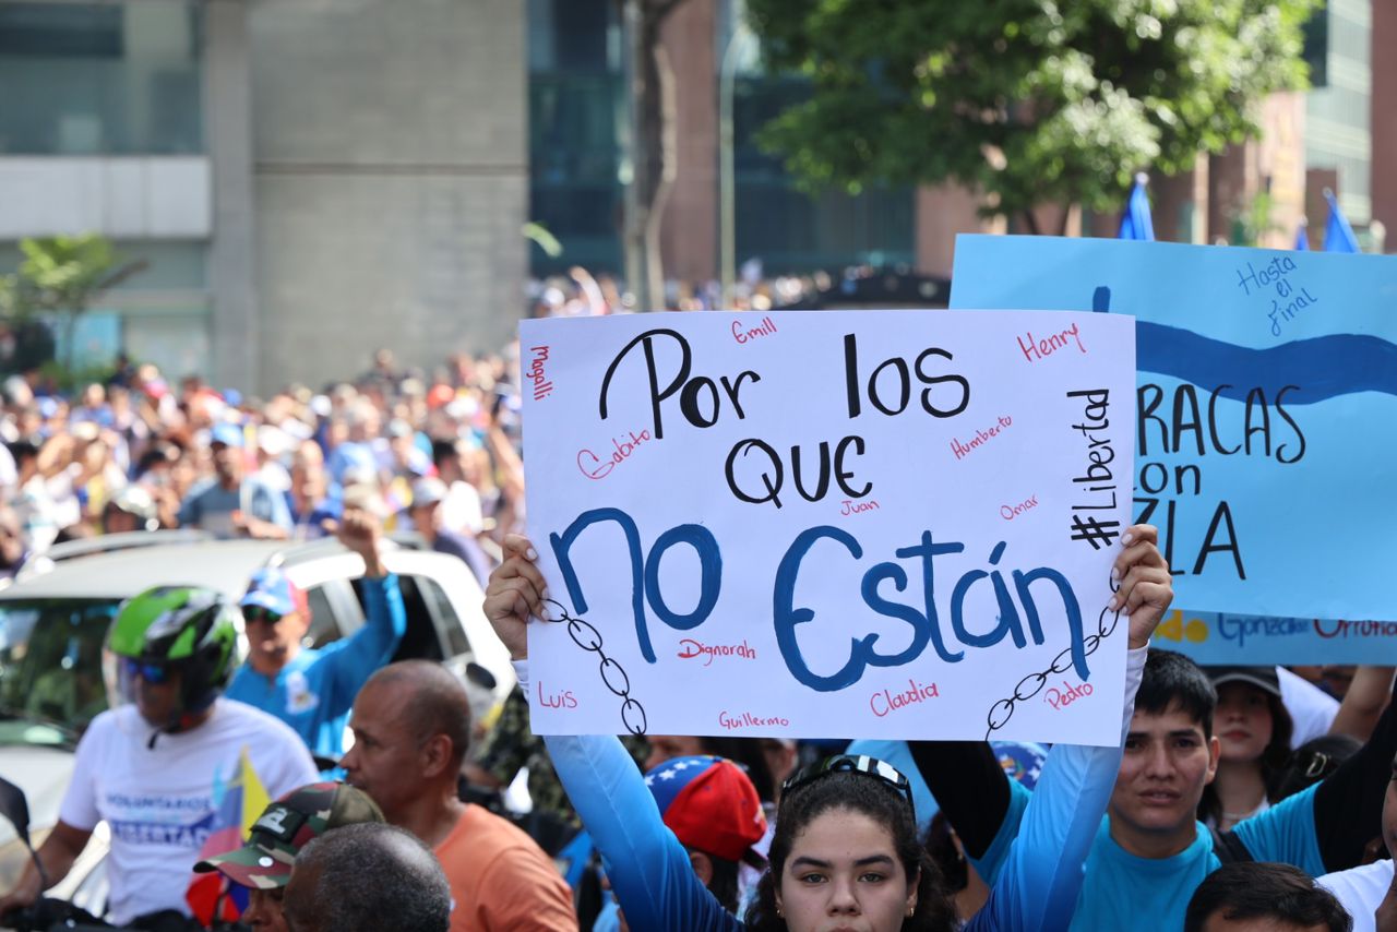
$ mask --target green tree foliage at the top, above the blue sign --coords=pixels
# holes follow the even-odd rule
[[[768,68],[812,95],[763,130],[810,190],[956,182],[1037,232],[1037,204],[1119,208],[1256,133],[1305,85],[1320,0],[747,0]]]

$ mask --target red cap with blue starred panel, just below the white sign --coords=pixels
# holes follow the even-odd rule
[[[767,833],[757,788],[722,757],[673,757],[645,774],[659,815],[686,848],[725,861],[760,861],[752,845]]]

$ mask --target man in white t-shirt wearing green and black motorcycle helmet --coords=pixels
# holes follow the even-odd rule
[[[244,757],[271,796],[317,778],[288,725],[219,699],[236,665],[236,611],[208,590],[161,587],[131,598],[112,623],[119,690],[131,701],[98,715],[82,736],[59,823],[38,857],[46,882],[57,883],[106,820],[108,918],[116,925],[190,914],[194,862],[225,827],[221,803],[242,785]],[[29,865],[0,898],[0,914],[34,903],[41,886]]]

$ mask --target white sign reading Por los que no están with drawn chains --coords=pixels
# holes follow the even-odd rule
[[[1132,319],[528,320],[520,366],[535,732],[1119,739]]]

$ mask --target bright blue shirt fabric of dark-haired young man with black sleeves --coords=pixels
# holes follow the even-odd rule
[[[1004,823],[975,869],[992,883],[1009,852],[1024,817],[1028,789],[1010,780],[1011,799]],[[1312,876],[1324,873],[1319,841],[1315,837],[1316,787],[1296,794],[1236,826],[1235,833],[1256,861],[1292,864]],[[1222,866],[1213,851],[1213,833],[1197,823],[1197,837],[1172,858],[1140,858],[1111,837],[1111,816],[1101,819],[1085,878],[1077,898],[1071,929],[1132,929],[1178,932],[1193,891],[1203,879]]]

